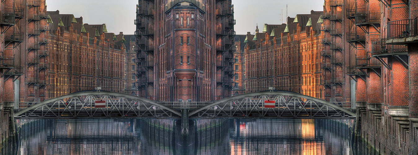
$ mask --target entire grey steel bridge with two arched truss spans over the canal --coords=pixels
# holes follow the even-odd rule
[[[106,105],[95,107],[94,101]],[[275,101],[274,108],[265,108],[264,101]],[[342,107],[343,106],[343,107]],[[212,103],[154,102],[130,94],[89,91],[48,99],[15,110],[21,119],[54,118],[325,118],[355,117],[346,105],[336,105],[306,95],[264,91],[241,94]],[[348,106],[349,107],[349,106]],[[184,110],[187,109],[187,110]],[[187,112],[183,113],[182,112]]]

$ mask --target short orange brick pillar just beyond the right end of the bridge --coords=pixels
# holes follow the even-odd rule
[[[356,86],[356,107],[363,113],[366,114],[367,108],[367,90],[366,82],[361,78],[357,78]]]

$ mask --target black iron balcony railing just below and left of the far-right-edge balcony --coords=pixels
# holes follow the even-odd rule
[[[387,39],[372,40],[372,55],[408,52],[408,47],[404,45],[388,45],[386,41]]]

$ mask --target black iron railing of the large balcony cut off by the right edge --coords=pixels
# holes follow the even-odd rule
[[[387,39],[417,36],[417,18],[387,22]]]

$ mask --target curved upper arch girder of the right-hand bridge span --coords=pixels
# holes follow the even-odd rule
[[[212,107],[216,107],[216,106],[218,106],[219,108],[227,107],[227,108],[230,108],[230,109],[233,109],[233,108],[238,108],[239,109],[240,108],[240,105],[225,106],[225,103],[229,102],[230,104],[235,104],[235,103],[232,103],[232,102],[237,101],[239,99],[245,99],[245,98],[248,98],[248,97],[255,97],[255,96],[287,96],[287,97],[292,97],[292,99],[295,99],[293,102],[296,102],[296,98],[298,98],[298,100],[299,99],[303,99],[302,102],[306,102],[306,103],[310,102],[311,106],[313,104],[315,104],[315,106],[316,106],[315,108],[317,108],[319,110],[324,109],[326,107],[326,108],[334,109],[335,111],[344,112],[345,114],[347,114],[349,116],[356,117],[356,114],[354,112],[351,112],[348,109],[345,109],[343,107],[340,107],[339,105],[333,104],[331,102],[324,101],[322,99],[317,99],[315,97],[310,97],[310,96],[306,96],[306,95],[299,94],[299,93],[295,93],[295,92],[291,92],[291,91],[261,91],[261,92],[253,92],[253,93],[247,93],[247,94],[240,94],[240,95],[237,95],[237,96],[232,96],[232,97],[224,98],[224,99],[218,100],[216,102],[212,102],[212,103],[207,104],[207,105],[205,105],[203,107],[200,107],[199,109],[195,109],[195,110],[189,112],[189,117],[193,117],[194,115],[196,115],[199,112],[202,112],[202,111],[205,111],[205,110],[207,111],[208,109],[210,109]],[[267,99],[267,98],[265,98],[265,99]],[[276,100],[280,100],[280,99],[276,98]],[[258,106],[258,107],[255,107],[254,106],[252,108],[260,108],[260,105],[262,105],[262,102],[264,102],[264,100],[259,99],[257,102],[258,103],[254,103],[254,104],[257,104],[256,106]],[[301,101],[299,101],[299,102],[301,102]],[[277,103],[277,101],[276,101],[276,103]],[[280,103],[278,103],[278,104],[280,104]],[[289,103],[283,102],[283,105],[285,105],[285,106],[288,106],[288,104]],[[221,106],[219,106],[219,105],[221,105]],[[295,105],[296,105],[296,103],[295,103]],[[280,109],[280,107],[276,107],[276,109],[277,108]],[[284,108],[284,110],[285,109],[286,108]],[[297,109],[297,108],[295,108],[295,109]],[[308,108],[306,107],[306,105],[304,105],[303,106],[303,109],[306,110]],[[311,109],[314,109],[314,108],[311,108]],[[216,109],[215,109],[215,111],[216,111]],[[339,112],[336,112],[336,113],[339,113]]]

